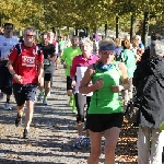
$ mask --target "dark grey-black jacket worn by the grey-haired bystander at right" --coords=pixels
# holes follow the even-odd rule
[[[155,79],[140,103],[141,115],[147,125],[149,122],[150,128],[159,128],[160,124],[164,121],[164,58],[153,57],[142,61],[138,65],[133,74],[137,97],[140,97],[150,81],[154,79],[154,73],[159,74],[156,72],[160,72],[161,75]]]

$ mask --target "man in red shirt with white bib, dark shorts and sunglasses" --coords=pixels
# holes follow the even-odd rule
[[[34,101],[37,91],[37,83],[43,83],[43,61],[44,55],[38,47],[33,44],[35,30],[26,27],[24,30],[24,43],[20,44],[21,54],[16,46],[9,56],[8,69],[13,78],[13,94],[17,105],[17,117],[15,126],[21,124],[23,108],[26,102],[26,115],[23,138],[28,138],[28,129],[33,118]]]

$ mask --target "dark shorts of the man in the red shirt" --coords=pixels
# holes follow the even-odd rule
[[[13,84],[13,94],[17,106],[22,106],[25,101],[35,101],[37,84]]]

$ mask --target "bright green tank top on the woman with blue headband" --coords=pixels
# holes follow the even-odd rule
[[[103,72],[96,68],[92,82],[95,83],[98,79],[103,80],[104,85],[93,93],[87,114],[122,113],[119,93],[114,93],[112,90],[112,85],[119,85],[120,71],[118,62],[115,61],[113,68],[108,71]]]

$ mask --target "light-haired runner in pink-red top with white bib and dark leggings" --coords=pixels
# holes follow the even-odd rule
[[[87,108],[89,108],[90,99],[92,96],[92,93],[90,94],[79,93],[80,81],[82,80],[87,67],[92,63],[95,63],[96,60],[98,60],[98,57],[92,54],[93,43],[92,40],[90,40],[90,38],[82,38],[80,42],[80,47],[82,50],[82,55],[74,57],[72,61],[71,71],[70,71],[72,85],[75,86],[74,96],[75,96],[75,107],[78,110],[78,115],[77,115],[78,138],[74,143],[74,147],[78,147],[78,148],[90,145],[87,127],[86,127],[86,138],[82,136],[82,130],[83,130],[83,124],[84,124],[84,106],[85,104],[87,104]],[[77,75],[77,81],[75,81],[75,75]]]

